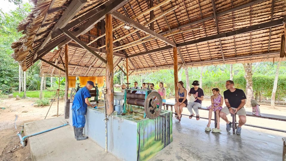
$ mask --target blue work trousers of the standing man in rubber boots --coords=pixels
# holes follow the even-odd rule
[[[79,108],[78,110],[72,109],[72,126],[75,126],[76,128],[84,127],[86,124],[86,117],[84,114],[83,108]]]

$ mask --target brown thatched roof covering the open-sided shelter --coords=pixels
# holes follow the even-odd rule
[[[12,45],[12,56],[23,70],[41,58],[55,64],[59,52],[51,50],[69,43],[69,75],[105,75],[105,64],[58,28],[69,30],[105,58],[105,37],[92,40],[105,33],[106,13],[113,15],[114,40],[120,38],[114,42],[116,68],[117,64],[126,68],[125,58],[129,71],[172,68],[174,46],[179,67],[285,61],[279,58],[281,35],[285,34],[284,0],[155,0],[153,6],[164,4],[153,10],[154,16],[150,11],[141,14],[151,8],[148,0],[87,0],[64,23],[62,16],[72,11],[68,7],[85,0],[75,1],[33,1],[34,9],[18,27],[25,35]],[[153,17],[156,20],[149,25]],[[124,22],[131,24],[130,30],[120,25]],[[51,73],[51,68],[43,62],[42,73],[59,72]],[[90,72],[85,71],[88,68]]]

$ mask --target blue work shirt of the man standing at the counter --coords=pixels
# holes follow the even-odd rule
[[[81,88],[77,91],[74,96],[74,101],[72,102],[72,109],[77,111],[80,108],[83,108],[83,113],[86,114],[87,104],[85,98],[90,98],[90,92],[86,87]]]

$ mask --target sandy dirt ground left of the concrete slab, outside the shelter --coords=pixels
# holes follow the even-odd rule
[[[50,106],[34,105],[36,98],[0,100],[0,160],[29,161],[29,144],[22,147],[17,133],[25,122],[42,120]],[[63,115],[63,100],[59,101],[59,115]],[[17,120],[16,119],[17,115]],[[47,118],[57,117],[57,102],[53,102]],[[17,129],[15,129],[15,126]],[[22,135],[23,136],[23,135]]]

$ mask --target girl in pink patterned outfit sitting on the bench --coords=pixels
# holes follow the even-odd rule
[[[214,95],[211,96],[211,102],[212,105],[207,107],[207,109],[209,109],[209,123],[206,126],[205,130],[206,131],[211,131],[211,128],[209,127],[211,124],[211,120],[212,120],[212,112],[215,111],[216,115],[217,115],[217,127],[216,128],[212,128],[213,132],[221,132],[220,129],[220,111],[221,109],[223,109],[223,97],[220,95],[220,90],[218,88],[214,88],[212,89],[212,93]]]

